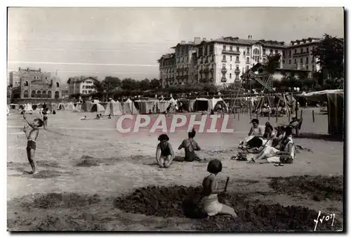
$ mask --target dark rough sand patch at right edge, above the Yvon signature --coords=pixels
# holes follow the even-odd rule
[[[343,176],[291,176],[272,178],[270,187],[278,192],[300,196],[307,195],[310,199],[343,200]]]

